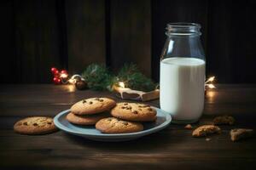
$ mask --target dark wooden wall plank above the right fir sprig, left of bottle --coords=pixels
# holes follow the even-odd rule
[[[135,63],[151,76],[151,5],[149,1],[113,0],[110,5],[111,56],[113,71]]]

